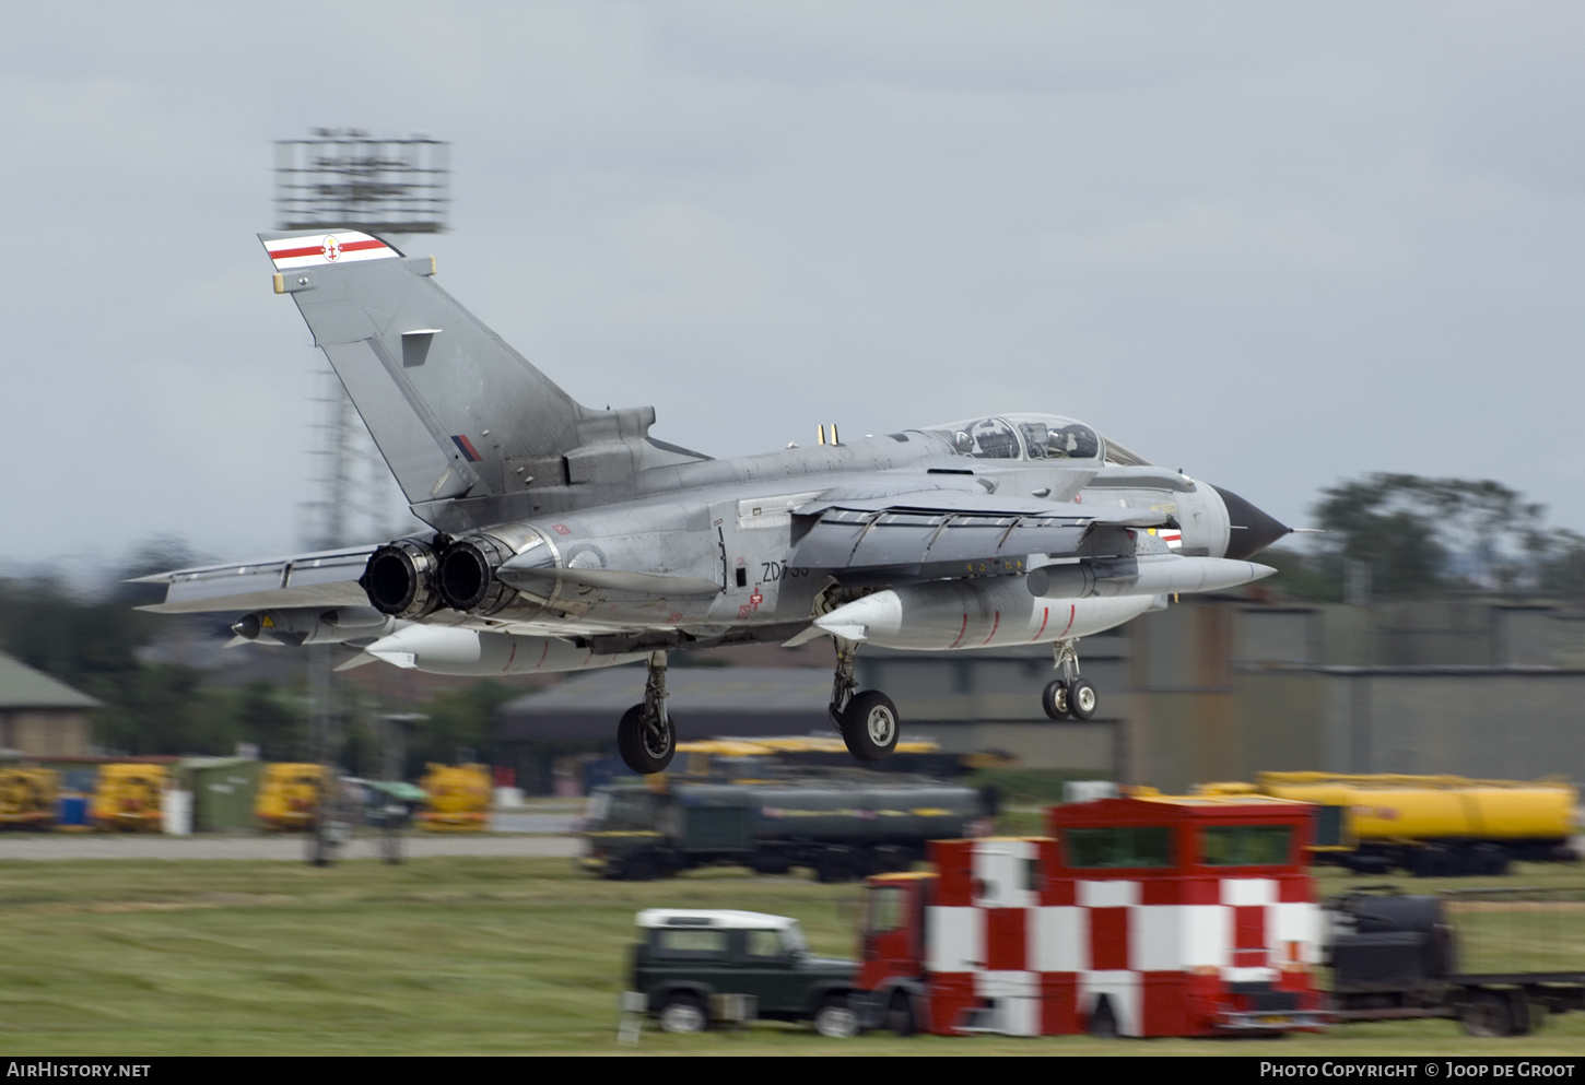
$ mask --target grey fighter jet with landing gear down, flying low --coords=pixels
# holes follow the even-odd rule
[[[1095,713],[1079,637],[1274,572],[1289,529],[1071,418],[1010,413],[712,459],[650,437],[651,407],[575,402],[407,258],[350,230],[260,234],[423,531],[384,545],[182,569],[165,613],[238,637],[341,643],[342,667],[444,675],[644,662],[617,724],[636,771],[675,748],[670,651],[831,637],[831,718],[861,760],[897,708],[861,645],[1051,645],[1052,719]]]

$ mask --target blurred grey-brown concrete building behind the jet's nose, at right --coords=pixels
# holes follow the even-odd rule
[[[1260,770],[1585,781],[1579,615],[1433,599],[1211,597],[1132,630],[1124,778],[1179,790]]]

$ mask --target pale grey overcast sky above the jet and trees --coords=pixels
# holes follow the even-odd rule
[[[1368,470],[1585,527],[1585,5],[54,3],[0,35],[0,565],[300,545],[271,141],[453,143],[409,244],[712,455],[1083,418],[1292,524]]]

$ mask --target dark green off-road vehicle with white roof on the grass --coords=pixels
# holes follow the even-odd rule
[[[796,919],[650,908],[637,916],[624,1006],[663,1031],[751,1020],[810,1022],[821,1036],[859,1031],[851,960],[815,957]]]

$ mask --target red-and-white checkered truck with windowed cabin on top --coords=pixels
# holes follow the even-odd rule
[[[1312,808],[1263,795],[1054,806],[1049,836],[945,839],[875,874],[853,1006],[940,1036],[1251,1036],[1325,1026]]]

